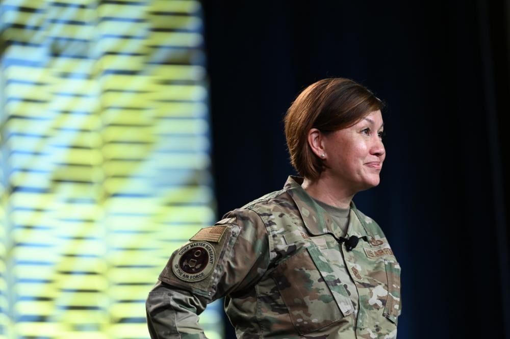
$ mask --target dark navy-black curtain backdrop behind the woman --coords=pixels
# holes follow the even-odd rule
[[[203,13],[218,217],[294,173],[282,119],[299,91],[354,79],[387,102],[381,184],[354,201],[402,267],[398,337],[510,338],[508,4],[215,0]]]

